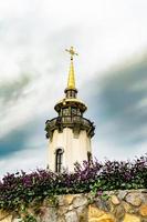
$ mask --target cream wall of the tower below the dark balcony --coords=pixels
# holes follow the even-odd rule
[[[52,171],[55,171],[57,149],[63,150],[62,168],[73,171],[74,163],[83,163],[83,160],[87,160],[87,152],[92,152],[91,138],[85,130],[81,130],[78,134],[74,134],[70,128],[64,128],[62,133],[55,130],[49,141],[49,167]]]

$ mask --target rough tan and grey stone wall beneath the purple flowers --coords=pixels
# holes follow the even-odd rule
[[[46,200],[35,215],[38,222],[147,222],[147,190],[111,191],[57,196],[57,206]],[[29,210],[34,215],[34,210]],[[23,216],[23,215],[22,215]],[[17,215],[0,213],[0,222],[18,222]]]

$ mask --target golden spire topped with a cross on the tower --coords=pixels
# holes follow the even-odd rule
[[[66,52],[71,54],[71,64],[70,64],[70,71],[69,71],[69,80],[67,80],[67,89],[75,89],[75,77],[74,77],[74,65],[73,65],[73,57],[78,56],[73,47],[71,49],[65,49]]]

